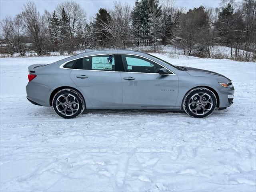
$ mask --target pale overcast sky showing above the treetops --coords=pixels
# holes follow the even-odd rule
[[[122,0],[128,2],[131,6],[134,6],[135,0]],[[27,0],[0,0],[0,20],[5,16],[16,14],[22,11],[23,4]],[[61,0],[34,0],[40,13],[44,10],[53,11],[54,8],[61,2]],[[94,17],[95,13],[98,12],[99,8],[111,8],[113,6],[112,0],[76,0],[84,10],[86,10],[87,18],[90,16]],[[186,8],[194,8],[200,5],[206,7],[217,7],[220,4],[220,0],[176,0],[176,6],[183,6]]]

